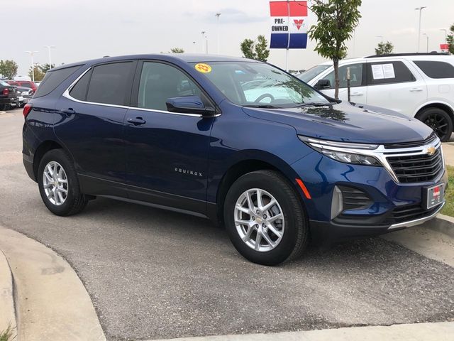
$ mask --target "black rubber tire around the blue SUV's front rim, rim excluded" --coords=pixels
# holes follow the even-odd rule
[[[260,188],[260,190],[270,193],[282,208],[284,233],[279,244],[269,251],[256,251],[243,242],[237,231],[236,202],[245,191],[253,188]],[[226,230],[233,246],[246,259],[257,264],[272,266],[295,259],[302,254],[309,239],[309,222],[298,193],[292,188],[289,181],[276,171],[255,171],[238,178],[226,195],[224,222],[226,222]]]

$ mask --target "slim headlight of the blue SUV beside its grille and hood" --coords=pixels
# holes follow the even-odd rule
[[[311,148],[333,160],[343,163],[353,163],[364,166],[382,166],[382,163],[374,156],[360,153],[378,148],[377,144],[353,144],[348,142],[326,141],[298,135],[299,139]],[[360,150],[358,153],[358,149]]]

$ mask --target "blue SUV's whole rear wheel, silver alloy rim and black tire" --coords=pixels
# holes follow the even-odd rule
[[[74,215],[87,205],[72,160],[62,149],[52,149],[41,159],[38,187],[44,204],[55,215]]]

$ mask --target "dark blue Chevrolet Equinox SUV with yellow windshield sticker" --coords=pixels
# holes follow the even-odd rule
[[[23,109],[23,163],[55,215],[97,196],[209,217],[250,261],[420,224],[443,207],[441,142],[283,70],[128,55],[50,70]]]

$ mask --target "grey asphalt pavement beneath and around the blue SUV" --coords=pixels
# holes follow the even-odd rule
[[[0,115],[0,224],[70,262],[109,340],[454,320],[454,269],[380,238],[265,267],[196,217],[107,199],[54,216],[23,169],[22,124]]]

